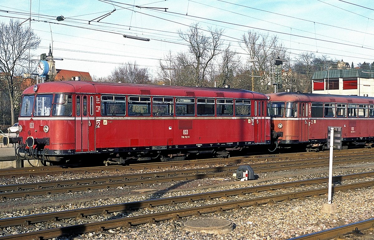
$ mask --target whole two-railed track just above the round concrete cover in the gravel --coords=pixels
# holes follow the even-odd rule
[[[358,173],[334,177],[333,181],[343,182],[349,179],[361,179],[373,177],[374,172]],[[191,194],[186,196],[168,197],[163,199],[150,199],[144,201],[113,204],[85,209],[51,212],[37,215],[21,216],[15,218],[0,219],[0,227],[6,233],[6,227],[18,226],[21,231],[29,231],[14,235],[2,236],[0,239],[50,239],[67,234],[81,234],[93,231],[105,231],[117,227],[131,227],[149,222],[159,222],[167,219],[179,219],[187,216],[199,216],[201,214],[230,211],[249,206],[276,203],[298,198],[313,197],[326,194],[328,188],[320,184],[328,182],[328,178],[309,179],[303,181],[284,182],[280,184],[246,187],[232,190],[215,191],[210,193]],[[346,191],[356,188],[371,187],[374,180],[335,185],[333,192]],[[316,187],[314,187],[316,186]],[[313,188],[314,187],[314,188]],[[304,190],[307,188],[306,190]],[[300,191],[300,189],[302,189]],[[280,192],[277,192],[280,190]],[[284,191],[288,190],[287,193]],[[258,194],[264,193],[263,196]],[[252,194],[255,194],[254,196]],[[172,206],[172,210],[163,210],[160,206]],[[154,213],[144,214],[139,209],[153,209]],[[111,213],[119,213],[111,215]],[[100,215],[107,218],[98,221],[89,216]],[[125,217],[122,217],[125,216]],[[64,219],[76,219],[84,224],[67,225]],[[47,223],[47,221],[52,222]],[[43,222],[49,228],[49,224],[60,225],[40,231],[32,231],[31,224]],[[25,230],[26,229],[26,230]]]

